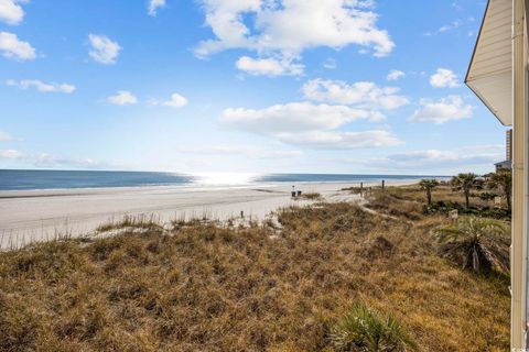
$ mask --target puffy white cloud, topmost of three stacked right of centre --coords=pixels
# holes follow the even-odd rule
[[[354,105],[363,109],[395,110],[409,103],[408,98],[398,95],[398,88],[379,88],[370,81],[348,85],[341,80],[313,79],[303,85],[302,90],[311,100]]]

